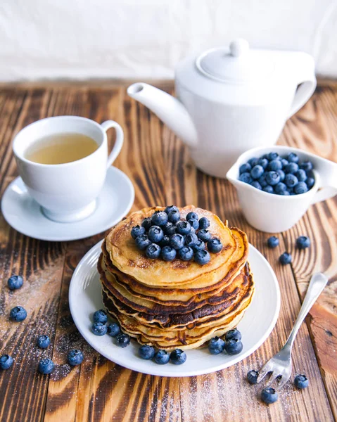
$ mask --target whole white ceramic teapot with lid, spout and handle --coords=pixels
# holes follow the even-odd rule
[[[177,65],[179,99],[144,83],[132,84],[127,93],[189,146],[199,169],[226,177],[241,153],[276,143],[315,87],[309,54],[250,49],[246,40],[236,39],[229,48],[210,49]]]

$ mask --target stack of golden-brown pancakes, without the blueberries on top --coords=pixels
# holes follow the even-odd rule
[[[210,220],[208,230],[222,241],[222,251],[208,264],[175,259],[151,260],[136,248],[133,226],[163,207],[145,208],[117,224],[102,245],[98,260],[103,302],[122,331],[139,343],[167,351],[194,349],[234,328],[253,297],[243,231],[229,229],[210,211],[187,206]]]

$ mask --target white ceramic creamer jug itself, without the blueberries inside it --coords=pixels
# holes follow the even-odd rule
[[[239,180],[239,168],[250,158],[260,158],[275,151],[279,155],[296,153],[300,160],[310,160],[314,165],[314,186],[300,195],[281,196],[260,191]],[[288,146],[252,148],[240,155],[227,172],[227,179],[236,187],[239,202],[248,223],[255,229],[267,233],[278,233],[290,229],[305,214],[310,205],[332,198],[337,194],[337,164]]]

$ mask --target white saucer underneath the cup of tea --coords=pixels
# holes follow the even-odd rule
[[[96,210],[80,222],[58,223],[45,217],[20,177],[6,188],[1,212],[10,226],[26,236],[42,241],[75,241],[110,229],[127,215],[133,203],[134,186],[129,177],[110,167],[96,200]]]

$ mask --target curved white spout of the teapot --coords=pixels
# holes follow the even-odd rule
[[[177,98],[143,82],[130,85],[127,94],[153,111],[189,147],[196,146],[196,128]]]

